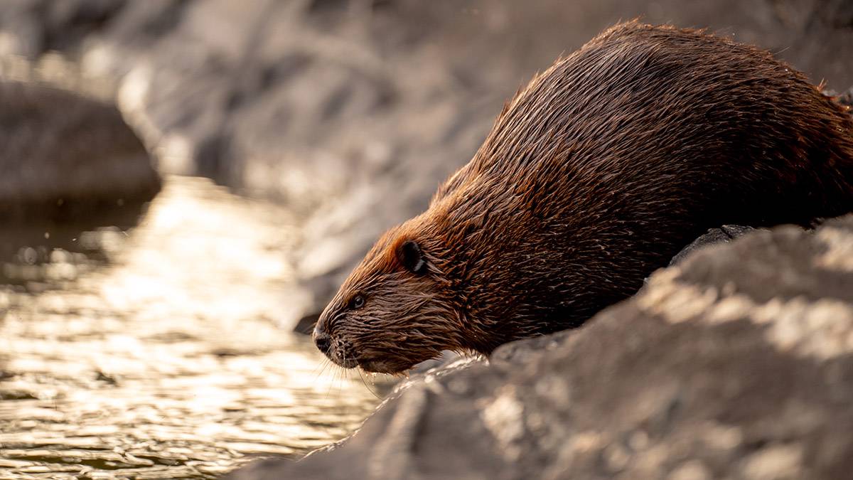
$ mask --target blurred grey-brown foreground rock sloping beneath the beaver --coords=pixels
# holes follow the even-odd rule
[[[231,478],[842,478],[853,215],[701,249],[586,326],[403,385],[363,428]]]

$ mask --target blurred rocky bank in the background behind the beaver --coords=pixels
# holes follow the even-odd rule
[[[9,0],[0,55],[60,50],[118,101],[160,171],[305,212],[293,323],[426,207],[502,102],[618,20],[709,26],[853,84],[844,0]],[[107,82],[108,83],[108,82]]]

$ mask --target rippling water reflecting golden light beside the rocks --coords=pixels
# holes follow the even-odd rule
[[[169,178],[138,225],[107,225],[0,238],[0,478],[214,477],[372,411],[278,325],[286,209]]]

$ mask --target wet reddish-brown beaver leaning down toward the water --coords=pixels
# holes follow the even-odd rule
[[[334,363],[582,325],[709,228],[853,209],[853,120],[766,50],[613,26],[519,90],[423,214],[387,231],[318,320]]]

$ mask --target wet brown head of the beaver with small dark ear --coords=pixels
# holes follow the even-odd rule
[[[466,349],[441,247],[415,221],[380,238],[317,320],[314,342],[339,366],[397,373]]]

